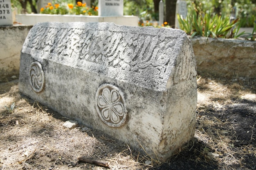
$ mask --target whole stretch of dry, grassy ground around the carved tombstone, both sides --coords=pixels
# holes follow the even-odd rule
[[[0,83],[0,170],[256,169],[256,79],[198,76],[195,136],[164,163],[20,94],[18,79]],[[149,164],[149,165],[147,165]]]

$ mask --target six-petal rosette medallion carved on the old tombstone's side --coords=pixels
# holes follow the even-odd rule
[[[126,120],[126,102],[123,93],[110,84],[101,85],[95,95],[96,109],[108,126],[119,127]]]

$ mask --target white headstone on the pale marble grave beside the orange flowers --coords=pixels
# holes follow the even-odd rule
[[[99,0],[99,16],[123,16],[124,0]]]

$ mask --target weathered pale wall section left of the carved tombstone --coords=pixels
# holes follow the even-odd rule
[[[32,26],[0,26],[0,82],[19,76],[20,50]]]

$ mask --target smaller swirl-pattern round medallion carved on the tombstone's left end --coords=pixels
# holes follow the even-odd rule
[[[42,65],[35,61],[31,63],[29,70],[29,82],[35,92],[41,92],[45,83],[45,74]]]

